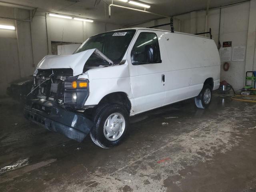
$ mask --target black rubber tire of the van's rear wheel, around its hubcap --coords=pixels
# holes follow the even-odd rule
[[[210,101],[209,102],[205,102],[205,94],[204,93],[206,92],[206,90],[208,92],[210,90]],[[198,108],[206,109],[210,105],[211,101],[212,101],[212,87],[209,84],[205,84],[203,86],[200,94],[197,97],[195,97],[195,104]]]

